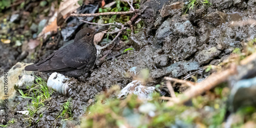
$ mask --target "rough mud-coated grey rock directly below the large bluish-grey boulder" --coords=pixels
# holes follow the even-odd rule
[[[172,55],[175,55],[179,60],[184,60],[197,52],[199,44],[197,38],[190,36],[178,40],[176,46],[172,49]]]

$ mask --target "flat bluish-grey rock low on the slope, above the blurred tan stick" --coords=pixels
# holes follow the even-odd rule
[[[166,73],[172,73],[174,78],[186,74],[188,71],[200,69],[198,62],[177,62],[166,67]]]

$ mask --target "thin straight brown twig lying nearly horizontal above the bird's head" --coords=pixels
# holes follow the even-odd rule
[[[139,12],[138,9],[134,11],[127,11],[127,12],[102,12],[102,13],[94,13],[94,14],[75,14],[72,13],[70,16],[73,17],[97,17],[97,16],[107,16],[107,15],[127,15]]]

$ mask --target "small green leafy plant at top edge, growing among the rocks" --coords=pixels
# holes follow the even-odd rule
[[[186,14],[189,9],[193,9],[194,6],[203,5],[203,6],[205,6],[206,8],[208,8],[209,6],[211,6],[211,3],[210,3],[208,0],[189,0],[189,1],[190,1],[189,4],[187,4],[187,5],[185,6],[185,12],[184,12],[184,14]]]

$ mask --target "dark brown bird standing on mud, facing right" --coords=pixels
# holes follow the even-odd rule
[[[97,49],[93,43],[94,35],[108,29],[81,29],[70,43],[46,59],[25,67],[26,71],[58,72],[78,78],[88,72],[96,61]]]

